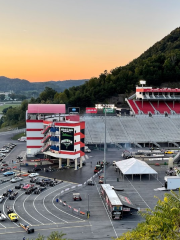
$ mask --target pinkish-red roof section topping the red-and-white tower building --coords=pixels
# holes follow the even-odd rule
[[[66,113],[65,104],[28,104],[28,113]]]

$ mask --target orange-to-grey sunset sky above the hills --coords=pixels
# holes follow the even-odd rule
[[[180,26],[180,0],[0,0],[0,76],[89,79]]]

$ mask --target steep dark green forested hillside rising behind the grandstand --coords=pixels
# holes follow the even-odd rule
[[[140,79],[146,80],[148,86],[160,86],[167,82],[178,86],[180,28],[172,31],[128,65],[117,67],[110,73],[104,71],[99,77],[91,78],[81,86],[56,93],[53,102],[80,107],[94,106],[97,102],[106,102],[109,97],[134,91]],[[50,99],[43,101],[49,102]],[[36,102],[41,102],[41,99],[38,98]]]

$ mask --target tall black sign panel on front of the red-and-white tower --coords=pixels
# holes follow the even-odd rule
[[[61,150],[74,151],[74,128],[61,127]]]

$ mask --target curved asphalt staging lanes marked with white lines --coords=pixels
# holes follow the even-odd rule
[[[2,175],[0,174],[0,177]],[[3,178],[3,177],[2,177]],[[5,178],[5,177],[4,177]],[[23,181],[17,183],[6,182],[0,185],[0,194],[3,194],[8,189],[14,189],[15,185],[20,183],[29,183],[30,178],[25,177]],[[62,228],[79,228],[89,227],[89,223],[80,218],[77,219],[73,214],[68,214],[63,211],[57,211],[53,205],[53,199],[59,195],[60,191],[73,185],[73,183],[63,182],[54,187],[48,187],[42,193],[26,195],[23,190],[18,191],[15,200],[5,199],[0,204],[2,212],[6,214],[6,206],[10,206],[19,216],[17,223],[12,223],[8,218],[4,222],[0,222],[0,235],[5,233],[21,233],[24,232],[19,227],[19,223],[28,224],[35,230],[45,231],[47,229],[59,230]],[[33,207],[34,205],[34,207]],[[35,209],[36,208],[36,209]],[[38,210],[38,212],[37,212]],[[6,214],[7,216],[7,214]]]

